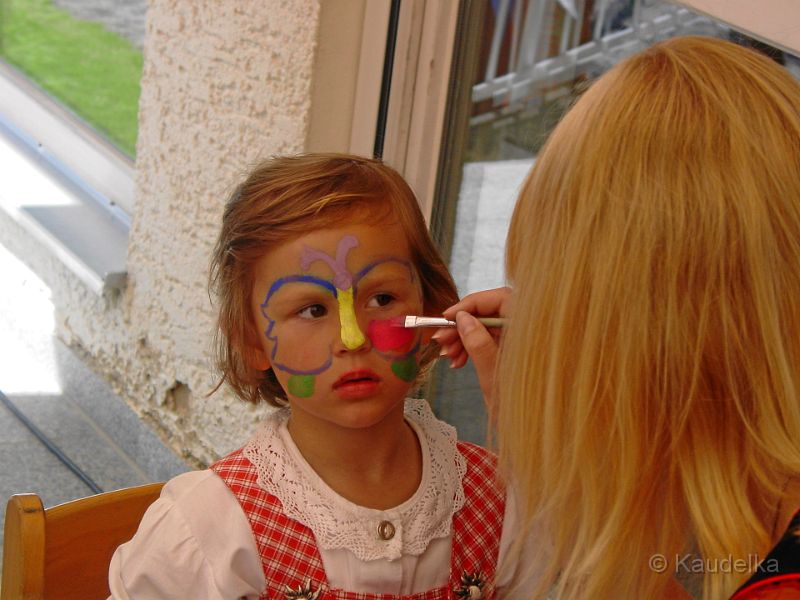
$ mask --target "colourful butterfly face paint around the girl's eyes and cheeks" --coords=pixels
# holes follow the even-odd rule
[[[362,241],[369,247],[375,244],[373,237],[382,240],[383,233],[367,235]],[[388,375],[387,383],[393,379],[395,386],[402,386],[419,373],[420,331],[392,324],[398,315],[420,310],[417,272],[407,257],[392,256],[395,246],[385,243],[382,251],[372,254],[381,258],[361,263],[351,272],[348,257],[353,260],[357,253],[351,250],[361,245],[356,236],[343,232],[326,242],[326,249],[336,249],[331,254],[313,242],[301,243],[293,255],[287,254],[271,267],[273,273],[282,274],[286,264],[299,258],[302,271],[273,279],[260,304],[260,316],[267,320],[263,331],[271,342],[267,347],[270,364],[290,397],[315,398],[325,393],[318,388],[328,389],[325,372],[334,363],[337,334],[351,350],[362,347],[368,338],[372,350],[386,361],[382,373]],[[363,332],[358,318],[369,321]]]

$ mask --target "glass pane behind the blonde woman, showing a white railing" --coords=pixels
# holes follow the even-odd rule
[[[481,51],[450,255],[461,295],[504,285],[505,237],[519,187],[587,82],[679,35],[756,46],[800,73],[796,57],[661,0],[487,0],[482,39],[464,42],[480,44]],[[483,403],[471,368],[453,372],[440,365],[434,385],[438,414],[462,438],[482,442]]]

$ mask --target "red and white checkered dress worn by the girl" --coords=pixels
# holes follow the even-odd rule
[[[493,581],[505,512],[505,497],[495,481],[494,455],[479,446],[458,443],[466,458],[464,506],[453,516],[453,550],[447,587],[403,596],[408,600],[444,600],[463,596],[462,576],[480,573],[483,598],[493,597]],[[211,465],[234,493],[250,520],[261,554],[267,589],[262,599],[283,600],[287,587],[297,590],[310,580],[317,600],[389,600],[393,594],[366,594],[331,589],[314,534],[283,514],[280,501],[258,486],[256,469],[241,450]],[[458,592],[461,592],[459,594]]]

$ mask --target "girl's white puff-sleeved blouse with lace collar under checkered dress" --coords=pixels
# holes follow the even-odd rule
[[[411,498],[382,511],[357,506],[330,489],[295,446],[287,419],[284,410],[270,415],[244,454],[256,467],[259,485],[314,532],[328,583],[397,595],[446,585],[449,569],[442,565],[450,564],[452,517],[464,500],[465,464],[455,429],[436,419],[427,402],[407,401],[406,420],[422,450],[422,480]],[[501,561],[516,529],[515,512],[509,494]],[[383,520],[395,525],[391,544],[373,533]],[[498,587],[510,583],[516,570],[505,567]],[[167,482],[134,538],[114,553],[109,585],[114,599],[231,600],[258,598],[266,580],[238,500],[222,479],[204,470]]]

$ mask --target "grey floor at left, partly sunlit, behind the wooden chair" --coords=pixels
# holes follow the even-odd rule
[[[0,274],[0,391],[7,400],[103,491],[187,470],[54,336],[50,290],[2,245]],[[52,506],[92,489],[0,402],[0,525],[5,501],[21,492]]]

